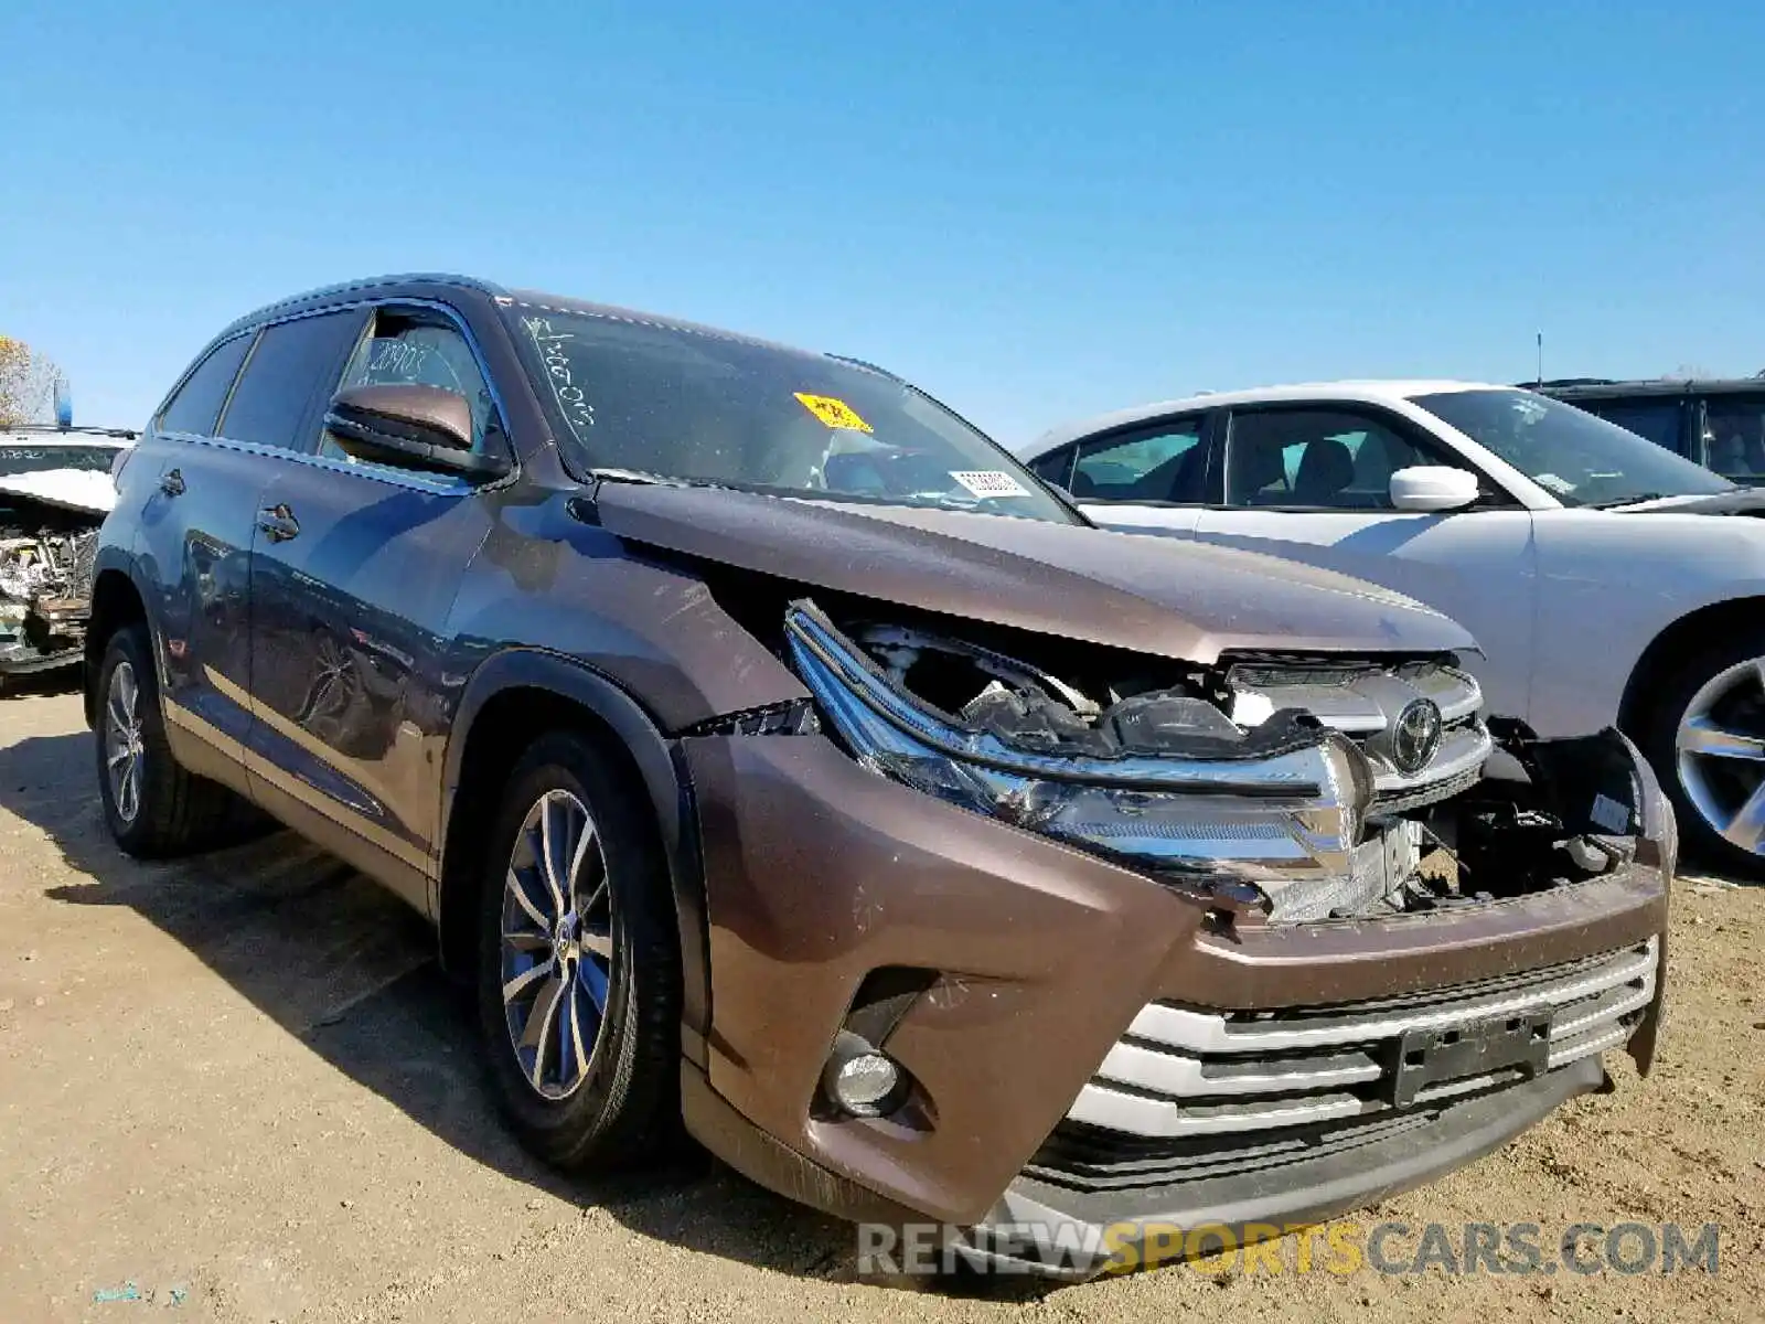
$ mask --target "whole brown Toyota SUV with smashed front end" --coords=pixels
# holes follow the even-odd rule
[[[683,1128],[1085,1276],[1654,1052],[1673,824],[1624,736],[1484,718],[1403,597],[1096,530],[868,364],[367,281],[222,330],[116,485],[116,840],[267,812],[381,881],[556,1163]]]

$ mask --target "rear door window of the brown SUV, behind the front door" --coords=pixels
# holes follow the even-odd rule
[[[228,401],[221,436],[282,450],[312,450],[314,402],[337,380],[362,314],[319,312],[265,327]]]

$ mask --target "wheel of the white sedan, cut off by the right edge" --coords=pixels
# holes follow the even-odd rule
[[[1640,734],[1686,853],[1765,877],[1765,630],[1739,632],[1679,666]]]

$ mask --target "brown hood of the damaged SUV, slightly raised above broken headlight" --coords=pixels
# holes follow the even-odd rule
[[[600,524],[632,544],[964,620],[1211,664],[1230,650],[1474,650],[1384,588],[1228,547],[927,510],[602,482]]]

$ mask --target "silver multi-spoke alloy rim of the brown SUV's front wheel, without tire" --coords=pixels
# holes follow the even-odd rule
[[[503,883],[503,1017],[521,1073],[544,1098],[588,1077],[612,976],[612,893],[588,809],[547,791],[515,835]]]

